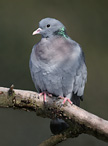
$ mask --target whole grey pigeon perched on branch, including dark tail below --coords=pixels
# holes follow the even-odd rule
[[[29,68],[35,88],[40,95],[63,97],[76,106],[83,100],[87,67],[80,45],[71,39],[66,27],[55,18],[44,18],[32,35],[41,34],[41,40],[32,48]],[[68,128],[59,118],[52,119],[50,129],[59,134]]]

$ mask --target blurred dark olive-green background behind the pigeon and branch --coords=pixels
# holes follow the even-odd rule
[[[81,107],[108,120],[108,0],[0,0],[0,86],[35,91],[29,57],[45,17],[60,20],[86,56],[88,82]],[[34,112],[0,109],[0,146],[36,146],[50,137],[50,119]],[[89,135],[58,146],[107,146]]]

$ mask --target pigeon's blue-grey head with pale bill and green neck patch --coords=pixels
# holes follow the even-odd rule
[[[65,26],[54,18],[44,18],[39,22],[39,28],[33,35],[41,34],[43,38],[50,38],[54,35],[67,37]]]

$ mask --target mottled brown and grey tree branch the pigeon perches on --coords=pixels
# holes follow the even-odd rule
[[[57,97],[47,97],[44,104],[43,97],[38,97],[38,93],[32,91],[16,90],[13,86],[9,88],[0,87],[0,107],[13,107],[35,111],[38,116],[44,118],[62,118],[69,124],[69,128],[60,135],[52,136],[45,143],[53,141],[57,144],[67,138],[77,137],[86,133],[108,142],[108,121],[91,114],[75,105],[66,103],[60,106],[62,99]],[[42,143],[43,144],[43,143]],[[42,144],[40,146],[42,146]]]

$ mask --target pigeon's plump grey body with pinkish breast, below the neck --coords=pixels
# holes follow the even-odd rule
[[[69,98],[73,92],[83,94],[86,66],[80,46],[71,39],[42,39],[32,49],[30,71],[39,92]]]

